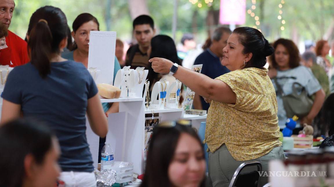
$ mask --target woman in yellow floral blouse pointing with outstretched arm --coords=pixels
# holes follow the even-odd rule
[[[221,63],[231,72],[216,79],[176,68],[166,59],[150,59],[155,72],[171,71],[176,79],[210,100],[204,141],[209,147],[209,182],[214,187],[228,186],[236,168],[245,161],[259,161],[263,171],[268,171],[270,160],[285,157],[279,141],[276,93],[268,70],[263,68],[273,47],[257,29],[239,27],[223,52]],[[267,177],[260,177],[260,185],[267,182]]]

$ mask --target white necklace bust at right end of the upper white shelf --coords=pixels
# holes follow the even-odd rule
[[[143,88],[148,75],[148,70],[144,67],[137,67],[130,73],[129,97],[143,97]]]

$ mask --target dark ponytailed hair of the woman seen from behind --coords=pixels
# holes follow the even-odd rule
[[[31,16],[28,32],[30,59],[40,76],[45,78],[50,73],[50,58],[60,53],[59,44],[67,37],[65,14],[56,7],[45,6],[37,9]]]

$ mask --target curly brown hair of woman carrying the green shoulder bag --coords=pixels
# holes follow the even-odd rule
[[[300,56],[299,56],[299,50],[296,44],[292,40],[280,38],[276,40],[273,44],[273,47],[275,50],[279,44],[282,44],[287,49],[287,52],[289,53],[289,67],[290,68],[298,67],[300,63]],[[277,69],[278,65],[275,60],[275,53],[271,56],[271,61],[272,61],[272,66]]]

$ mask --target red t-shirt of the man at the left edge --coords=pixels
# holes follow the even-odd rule
[[[8,31],[6,44],[8,48],[2,49],[0,51],[1,65],[15,67],[27,64],[30,61],[28,56],[27,42],[22,40],[22,38]]]

